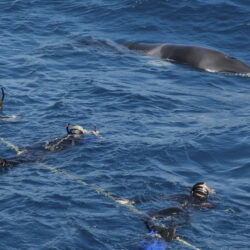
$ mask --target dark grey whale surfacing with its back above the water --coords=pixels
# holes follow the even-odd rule
[[[129,50],[214,73],[250,73],[242,61],[217,50],[174,44],[125,43]]]

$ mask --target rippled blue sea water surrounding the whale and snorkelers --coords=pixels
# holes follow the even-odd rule
[[[243,0],[1,0],[0,116],[13,119],[0,120],[0,137],[21,148],[65,135],[68,122],[96,124],[101,137],[50,154],[50,169],[0,174],[0,249],[135,249],[144,222],[103,190],[157,197],[199,181],[215,189],[214,207],[178,236],[200,249],[249,249],[250,78],[121,45],[204,46],[249,65],[249,13]],[[2,141],[0,152],[15,155]]]

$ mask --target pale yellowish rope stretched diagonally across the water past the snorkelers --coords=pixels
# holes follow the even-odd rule
[[[2,142],[4,142],[9,148],[11,149],[14,149],[16,151],[16,153],[21,153],[22,151],[19,150],[19,148],[17,146],[15,146],[14,144],[8,142],[7,140],[5,140],[4,138],[0,137],[0,140]],[[75,176],[75,175],[72,175],[72,174],[69,174],[68,172],[64,171],[64,170],[61,170],[61,169],[58,169],[58,168],[55,168],[55,167],[52,167],[52,166],[49,166],[45,163],[41,163],[41,162],[37,162],[41,167],[44,167],[46,169],[49,169],[52,173],[54,174],[59,174],[59,175],[63,175],[75,182],[78,182],[84,186],[88,186],[90,187],[92,190],[94,190],[97,194],[99,195],[103,195],[107,198],[109,198],[110,200],[118,203],[119,205],[122,205],[122,206],[125,206],[126,208],[128,208],[130,211],[132,211],[133,213],[136,213],[136,214],[140,214],[140,215],[146,215],[144,212],[138,210],[136,207],[134,207],[132,204],[121,204],[120,202],[118,202],[118,199],[117,197],[113,196],[111,193],[105,191],[104,189],[100,188],[99,186],[95,185],[95,184],[88,184],[87,182],[85,182],[84,180],[82,180],[81,178]],[[187,241],[183,240],[182,238],[180,237],[176,237],[175,240],[183,243],[184,245],[186,246],[189,246],[190,248],[193,248],[195,250],[201,250],[200,248],[197,248],[196,246],[193,246],[191,245],[190,243],[188,243]]]

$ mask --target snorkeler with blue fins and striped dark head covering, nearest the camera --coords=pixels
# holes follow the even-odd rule
[[[204,182],[196,183],[189,195],[177,194],[171,196],[164,196],[162,199],[168,201],[174,201],[179,204],[177,207],[169,207],[163,210],[148,213],[143,216],[143,220],[146,227],[150,231],[151,243],[163,244],[163,241],[172,241],[176,239],[176,227],[185,223],[189,219],[189,209],[209,209],[212,208],[212,204],[207,201],[209,194],[215,193],[211,190]],[[120,204],[136,204],[156,199],[120,199],[117,200]],[[168,223],[166,226],[164,223]],[[153,240],[153,241],[152,241]],[[156,240],[156,241],[155,241]],[[145,244],[149,244],[148,241],[141,242],[137,249],[148,249],[144,248]],[[141,247],[140,247],[141,246]],[[154,248],[152,248],[154,249]],[[165,248],[164,248],[165,249]]]

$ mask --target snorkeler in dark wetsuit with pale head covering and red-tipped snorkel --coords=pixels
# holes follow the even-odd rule
[[[88,131],[79,125],[74,125],[69,129],[70,125],[67,124],[66,131],[67,136],[57,137],[44,145],[34,145],[32,147],[26,147],[18,152],[18,154],[9,159],[0,158],[0,167],[11,167],[21,163],[37,162],[44,160],[46,152],[57,152],[65,150],[70,146],[79,145],[83,141],[85,135],[93,134],[99,135],[99,131],[96,130],[96,126],[93,131]]]

